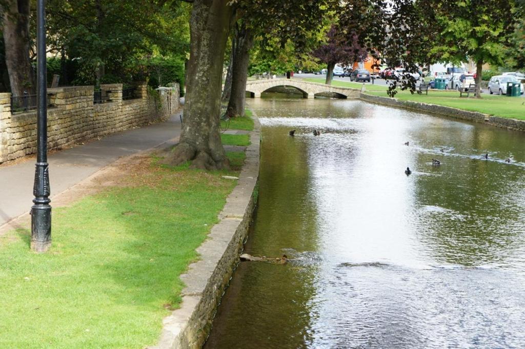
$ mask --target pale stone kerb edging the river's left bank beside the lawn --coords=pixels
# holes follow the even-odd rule
[[[200,260],[181,275],[181,308],[163,320],[161,338],[150,349],[201,348],[211,330],[217,305],[238,262],[255,207],[254,190],[259,176],[260,124],[254,113],[251,145],[237,186],[226,199],[206,241],[197,248]]]

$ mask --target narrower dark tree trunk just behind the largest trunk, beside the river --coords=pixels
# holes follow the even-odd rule
[[[228,102],[228,117],[244,116],[246,105],[246,80],[248,79],[248,64],[250,49],[254,44],[253,30],[243,23],[235,30],[235,53],[232,67],[232,92]]]

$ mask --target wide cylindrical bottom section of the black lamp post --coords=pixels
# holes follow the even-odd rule
[[[51,246],[51,206],[31,207],[31,250],[46,252]]]

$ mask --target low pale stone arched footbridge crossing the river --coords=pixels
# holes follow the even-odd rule
[[[318,93],[334,93],[338,98],[359,98],[360,89],[331,86],[324,83],[309,82],[301,79],[269,79],[246,82],[246,91],[252,98],[260,98],[261,93],[278,86],[295,87],[304,98],[314,98]]]

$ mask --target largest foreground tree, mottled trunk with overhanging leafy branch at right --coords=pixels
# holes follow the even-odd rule
[[[319,21],[322,19],[326,9],[324,4],[328,2],[329,0],[194,0],[190,19],[187,102],[184,105],[181,141],[166,162],[180,164],[191,160],[192,166],[208,170],[228,167],[224,148],[220,143],[218,115],[224,53],[233,23],[243,19],[247,24],[255,25],[271,19],[266,37],[277,36],[282,45],[288,39],[293,39],[298,47],[303,47],[308,39],[305,28],[315,23],[316,18]],[[244,71],[244,75],[246,72]]]

